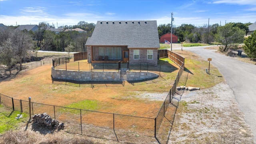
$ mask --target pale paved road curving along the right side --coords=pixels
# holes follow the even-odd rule
[[[219,69],[233,90],[240,110],[244,113],[244,120],[250,126],[256,142],[256,65],[218,54],[214,50],[204,49],[205,47],[209,46],[183,47],[183,50],[194,52],[205,60],[212,58],[210,63]],[[175,49],[181,50],[173,48]]]

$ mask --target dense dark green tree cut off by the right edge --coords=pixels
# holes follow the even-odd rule
[[[244,40],[244,52],[251,60],[256,60],[256,30]]]

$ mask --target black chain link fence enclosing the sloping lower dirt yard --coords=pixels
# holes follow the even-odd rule
[[[16,100],[3,94],[0,94],[0,104],[9,108],[10,111],[31,112],[30,116],[46,112],[52,118],[64,122],[65,131],[69,133],[84,134],[126,143],[152,143],[160,139],[158,138],[158,135],[160,135],[158,133],[163,127],[162,121],[168,106],[172,103],[176,84],[178,84],[178,80],[184,70],[184,63],[178,63],[181,65],[175,82],[155,118],[82,110],[36,102],[30,103],[29,101]],[[30,104],[31,109],[29,109]],[[165,141],[168,142],[168,138]]]

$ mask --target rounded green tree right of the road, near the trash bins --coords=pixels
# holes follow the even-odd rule
[[[228,49],[229,44],[233,43],[242,43],[244,41],[245,33],[238,27],[233,27],[232,23],[228,23],[225,26],[219,26],[217,29],[216,42],[224,45],[224,49],[222,51],[226,51]]]

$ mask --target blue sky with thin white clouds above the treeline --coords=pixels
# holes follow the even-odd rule
[[[256,0],[0,0],[0,23],[16,26],[47,22],[157,20],[174,26],[256,22]]]

